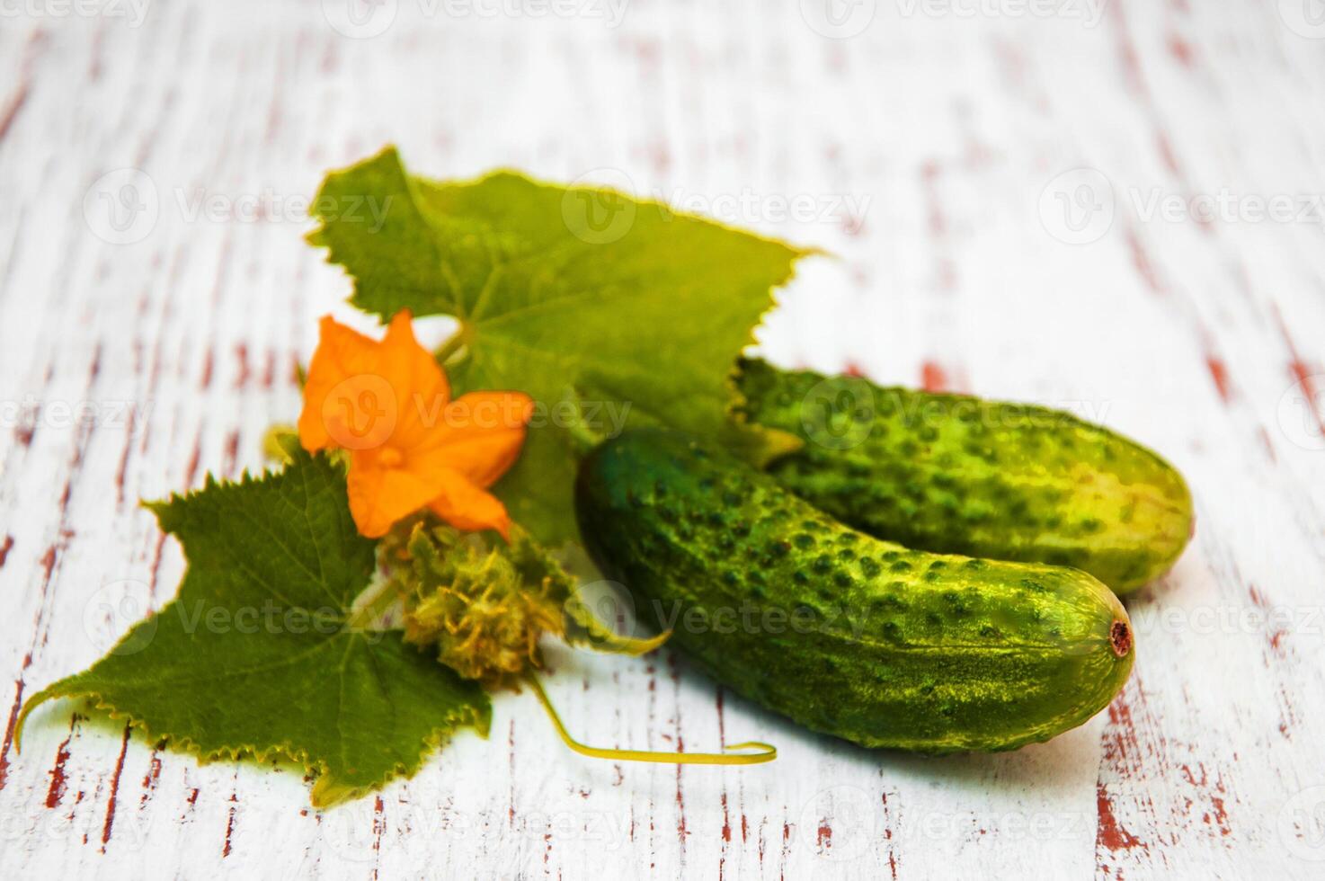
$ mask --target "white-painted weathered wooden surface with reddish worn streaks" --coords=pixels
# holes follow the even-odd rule
[[[143,1],[0,17],[0,726],[174,592],[135,499],[258,465],[295,413],[315,318],[348,314],[302,200],[388,140],[435,176],[594,172],[832,249],[770,356],[1071,407],[1170,457],[1198,531],[1129,603],[1124,694],[1044,746],[868,752],[666,653],[554,650],[596,742],[780,758],[590,762],[505,696],[490,739],[319,813],[295,771],[57,705],[21,756],[5,734],[0,876],[1325,872],[1320,0],[859,0],[837,24],[820,0],[383,0],[358,29],[346,0]]]

